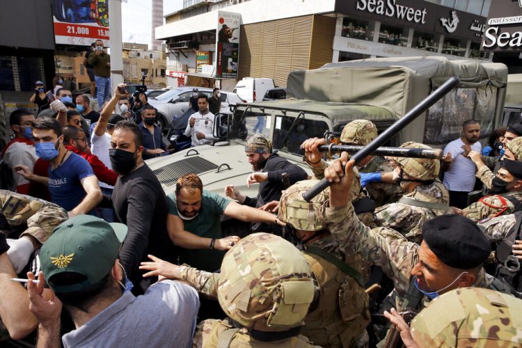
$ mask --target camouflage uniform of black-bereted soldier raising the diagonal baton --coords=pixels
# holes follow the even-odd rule
[[[336,223],[337,226],[342,226],[342,228],[331,231],[341,248],[353,248],[354,252],[361,255],[362,258],[381,267],[384,274],[393,280],[395,308],[403,310],[402,304],[413,279],[411,270],[418,262],[420,246],[408,242],[400,233],[390,228],[370,229],[363,225],[354,214],[354,207],[351,203],[345,207],[327,207],[324,209],[324,214],[326,219]],[[491,282],[491,278],[486,277],[482,270],[473,286],[492,287]],[[421,308],[427,306],[428,303],[429,298],[422,296]]]

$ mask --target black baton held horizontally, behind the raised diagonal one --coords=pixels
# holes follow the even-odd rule
[[[356,153],[364,148],[362,145],[330,145],[319,146],[320,152],[329,152],[333,155],[340,152]],[[442,158],[441,149],[410,149],[410,148],[377,148],[372,152],[374,156],[412,157],[412,158]]]

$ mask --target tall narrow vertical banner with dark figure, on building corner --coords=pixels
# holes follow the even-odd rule
[[[237,79],[241,14],[218,11],[216,78]]]

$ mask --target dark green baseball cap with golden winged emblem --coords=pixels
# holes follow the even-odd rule
[[[40,265],[54,292],[83,290],[106,276],[127,237],[127,226],[79,215],[58,225],[40,250]],[[73,272],[84,280],[54,284],[56,274]]]

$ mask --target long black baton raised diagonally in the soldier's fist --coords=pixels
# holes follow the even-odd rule
[[[390,125],[388,129],[386,129],[384,132],[379,134],[377,138],[375,138],[371,143],[366,145],[364,148],[356,152],[355,155],[351,157],[355,161],[355,164],[358,164],[361,159],[366,157],[367,155],[372,154],[375,149],[379,148],[379,146],[383,145],[383,143],[386,143],[386,141],[390,140],[392,136],[400,132],[404,127],[409,125],[409,123],[416,118],[418,118],[422,113],[424,113],[427,109],[429,109],[429,106],[432,106],[438,100],[440,100],[446,93],[448,93],[453,88],[457,87],[459,84],[459,79],[457,77],[451,77],[448,79],[448,81],[445,81],[444,84],[442,84],[439,88],[434,90],[434,92],[427,97],[425,97],[424,100],[422,100],[419,104],[416,106],[413,106],[413,109],[408,111],[406,115],[404,115],[399,120],[395,121],[393,125]],[[342,166],[343,171],[345,170],[345,166]],[[311,189],[303,193],[303,198],[310,202],[312,198],[317,196],[321,191],[328,188],[331,185],[331,182],[326,180],[324,178],[323,180],[317,182],[317,184],[314,185]]]

